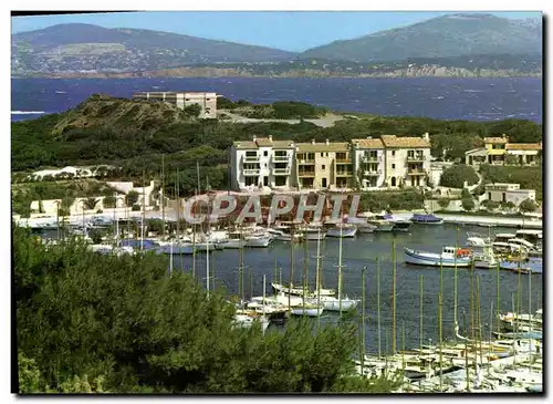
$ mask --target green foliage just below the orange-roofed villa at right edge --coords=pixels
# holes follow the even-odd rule
[[[490,183],[520,184],[523,189],[535,189],[535,198],[543,197],[543,168],[542,166],[492,166],[484,164],[480,166],[480,174]]]

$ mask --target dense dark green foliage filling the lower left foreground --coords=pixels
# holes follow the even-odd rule
[[[223,291],[209,297],[166,257],[45,246],[13,228],[21,393],[389,392],[355,375],[358,319],[315,330],[233,327]]]

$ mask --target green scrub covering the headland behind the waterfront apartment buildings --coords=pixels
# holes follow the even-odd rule
[[[144,115],[143,121],[123,130],[112,115],[104,118],[93,115],[88,121],[84,114],[88,104],[98,111],[103,102],[91,99],[79,106],[79,112],[12,123],[12,172],[109,164],[122,167],[113,178],[142,180],[143,172],[147,178],[159,178],[165,159],[168,191],[174,194],[179,182],[180,196],[187,196],[196,188],[196,164],[200,166],[201,189],[206,189],[208,183],[213,189],[227,189],[230,146],[234,141],[251,139],[253,135],[295,142],[348,142],[366,136],[420,136],[429,132],[432,155],[445,154],[452,158],[480,145],[486,136],[507,134],[512,142],[524,143],[542,139],[542,125],[522,120],[469,122],[361,114],[358,118],[338,121],[325,128],[309,122],[295,125],[279,122],[238,124],[218,120],[167,122],[163,114],[154,114]],[[144,124],[146,121],[148,125]],[[82,125],[66,124],[60,133],[60,123],[69,122]],[[541,189],[541,184],[534,188]]]

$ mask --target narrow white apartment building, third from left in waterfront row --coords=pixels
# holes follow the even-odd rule
[[[376,189],[384,186],[386,152],[379,138],[353,139],[354,175],[362,189]]]

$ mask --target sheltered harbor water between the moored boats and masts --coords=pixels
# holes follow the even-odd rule
[[[457,230],[458,229],[458,230]],[[405,263],[404,246],[440,252],[444,246],[455,246],[457,235],[459,245],[465,246],[467,232],[481,232],[487,236],[487,230],[481,227],[455,225],[425,226],[413,225],[409,232],[398,234],[357,234],[355,238],[343,239],[343,294],[349,298],[362,296],[362,270],[366,267],[366,344],[371,352],[378,351],[378,307],[377,307],[377,265],[380,267],[380,349],[389,351],[393,334],[393,242],[396,249],[396,348],[403,346],[403,328],[405,328],[405,346],[417,348],[420,343],[420,276],[424,276],[422,292],[422,334],[424,343],[438,342],[438,297],[440,291],[440,269],[416,267]],[[509,229],[495,228],[494,232],[505,232]],[[337,287],[340,240],[326,238],[321,242],[322,250],[322,279],[325,288]],[[316,269],[316,241],[307,242],[309,283],[315,287]],[[304,268],[305,245],[294,245],[294,284],[302,284]],[[230,294],[239,291],[239,250],[217,250],[210,253],[211,287],[223,287]],[[268,294],[272,293],[270,280],[274,278],[275,262],[278,274],[282,273],[282,282],[290,281],[291,246],[289,242],[273,241],[268,248],[248,248],[244,250],[244,290],[246,298],[263,293],[263,276],[267,276]],[[174,257],[174,270],[191,272],[192,257]],[[280,273],[279,273],[280,272]],[[453,268],[444,268],[442,271],[442,336],[449,340],[455,336],[455,272]],[[251,277],[250,277],[251,273]],[[471,281],[472,274],[472,281]],[[206,286],[206,253],[196,255],[196,278]],[[458,323],[461,334],[467,334],[471,321],[477,321],[477,291],[480,290],[480,323],[481,336],[490,338],[491,331],[497,331],[498,308],[498,278],[499,278],[499,307],[500,311],[534,312],[542,308],[542,276],[518,274],[511,271],[466,268],[457,269],[457,305]],[[251,282],[250,282],[251,279]],[[520,289],[519,289],[520,281]],[[531,283],[531,284],[529,284]],[[529,301],[529,286],[531,301]],[[471,290],[473,292],[471,305]],[[518,307],[518,304],[520,304]],[[530,308],[529,304],[532,307]],[[472,307],[472,310],[471,310]],[[361,309],[361,305],[359,305]],[[492,312],[493,311],[493,312]],[[470,313],[473,313],[471,317]],[[490,314],[492,314],[490,317]],[[323,314],[332,321],[335,313]],[[490,329],[490,322],[492,328]],[[474,331],[476,332],[476,331]],[[474,334],[477,336],[477,334]]]

